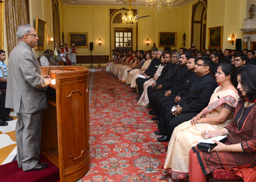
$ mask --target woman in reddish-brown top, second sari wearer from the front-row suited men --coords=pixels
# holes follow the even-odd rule
[[[131,81],[129,81],[130,83],[127,82],[128,74],[132,71],[133,73],[131,73],[131,74],[134,75],[134,73],[137,72],[142,67],[144,62],[145,62],[145,55],[144,55],[144,52],[141,51],[139,59],[136,61],[136,63],[130,69],[126,69],[125,71],[123,71],[122,82],[126,83],[126,85],[131,84],[132,79],[131,79]]]

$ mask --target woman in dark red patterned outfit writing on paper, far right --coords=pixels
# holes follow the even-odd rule
[[[256,166],[256,66],[243,66],[238,70],[238,89],[242,96],[232,122],[216,131],[202,132],[202,137],[227,135],[227,141],[211,152],[189,152],[189,181],[206,181],[207,174],[218,168],[243,168],[244,181],[255,181]],[[250,170],[249,168],[254,168]],[[248,173],[247,171],[250,170]],[[251,172],[253,171],[253,172]],[[250,174],[250,175],[248,175]],[[254,177],[254,178],[253,178]],[[252,179],[253,178],[253,179]]]

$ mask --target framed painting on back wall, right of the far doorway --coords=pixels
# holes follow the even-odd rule
[[[159,47],[176,47],[177,32],[159,32]]]

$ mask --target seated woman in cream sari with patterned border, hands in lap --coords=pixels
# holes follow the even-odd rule
[[[178,125],[170,138],[163,175],[173,179],[188,179],[188,156],[191,147],[202,139],[204,130],[215,130],[228,125],[233,117],[233,110],[239,100],[238,91],[232,85],[236,68],[231,64],[221,64],[216,72],[217,87],[211,95],[208,106],[191,120]]]

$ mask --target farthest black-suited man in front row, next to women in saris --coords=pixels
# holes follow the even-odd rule
[[[163,55],[163,50],[158,50],[156,58],[150,63],[150,66],[148,66],[148,68],[144,71],[144,73],[145,73],[144,76],[146,76],[145,79],[142,79],[140,77],[138,77],[138,79],[136,79],[137,89],[138,89],[138,94],[139,94],[137,99],[139,99],[143,93],[144,82],[146,82],[147,80],[150,80],[154,77],[154,74],[156,73],[158,66],[161,64],[161,61],[160,61],[161,55]]]

